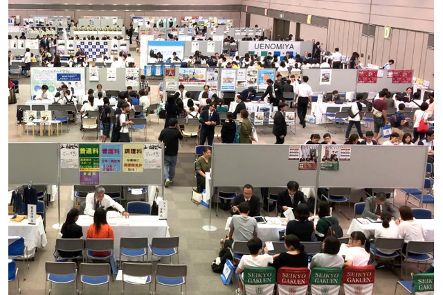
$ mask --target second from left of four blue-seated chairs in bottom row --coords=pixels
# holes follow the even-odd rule
[[[111,278],[111,265],[108,263],[80,263],[80,294],[83,284],[99,286],[107,284],[109,294],[109,280]]]

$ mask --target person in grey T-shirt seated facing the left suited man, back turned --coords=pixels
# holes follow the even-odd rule
[[[238,205],[239,214],[233,215],[229,224],[229,235],[224,247],[232,247],[234,241],[248,241],[257,238],[257,220],[248,216],[249,204],[242,202]]]

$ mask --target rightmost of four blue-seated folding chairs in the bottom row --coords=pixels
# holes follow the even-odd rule
[[[156,269],[154,294],[157,291],[157,283],[168,287],[181,286],[181,294],[183,294],[183,285],[185,285],[184,294],[186,294],[187,274],[188,267],[186,265],[163,265],[159,263]]]

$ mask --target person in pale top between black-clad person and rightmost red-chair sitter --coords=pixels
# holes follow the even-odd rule
[[[310,269],[315,267],[343,267],[345,261],[343,256],[338,255],[340,241],[334,235],[328,235],[322,244],[323,253],[312,256]]]

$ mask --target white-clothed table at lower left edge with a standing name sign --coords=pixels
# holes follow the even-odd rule
[[[35,249],[42,249],[48,243],[46,233],[44,232],[43,220],[39,216],[36,224],[28,224],[28,220],[22,220],[19,223],[11,222],[12,215],[8,216],[8,235],[17,235],[23,237],[25,245],[28,247],[28,257],[33,258]]]

